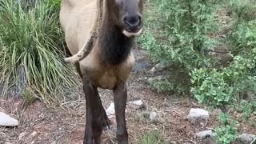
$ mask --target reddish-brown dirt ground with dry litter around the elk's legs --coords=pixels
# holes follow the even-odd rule
[[[137,62],[142,54],[136,55]],[[150,62],[148,62],[150,63]],[[145,62],[144,62],[145,64]],[[144,66],[144,64],[140,66]],[[211,144],[210,138],[195,138],[195,133],[213,129],[218,125],[217,113],[210,112],[210,121],[189,122],[186,115],[190,108],[199,106],[190,97],[177,97],[171,94],[158,94],[150,89],[145,82],[146,74],[131,74],[128,82],[128,102],[126,122],[130,143],[139,143],[142,134],[157,131],[170,144]],[[85,131],[86,104],[82,89],[78,101],[72,102],[73,108],[62,110],[60,107],[49,108],[40,101],[22,108],[21,98],[12,98],[0,101],[0,111],[11,114],[20,122],[18,127],[0,127],[0,144],[79,144]],[[113,102],[110,90],[100,90],[102,103],[105,108]],[[141,99],[145,106],[138,107],[130,103]],[[157,120],[150,122],[150,112],[157,112]],[[114,122],[114,118],[112,118]],[[241,125],[242,130],[246,126]],[[248,125],[249,126],[249,125]],[[114,126],[115,127],[115,126]],[[250,129],[251,130],[251,129]],[[106,130],[102,134],[102,143],[116,143],[114,129]]]

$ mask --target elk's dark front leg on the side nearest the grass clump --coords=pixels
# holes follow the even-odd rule
[[[83,77],[83,90],[86,95],[86,133],[84,144],[100,144],[102,134],[102,110],[97,87],[91,85],[90,79]]]

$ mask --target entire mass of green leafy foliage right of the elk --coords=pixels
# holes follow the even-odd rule
[[[150,26],[139,39],[155,62],[178,64],[190,75],[190,94],[198,102],[220,108],[240,110],[248,119],[256,102],[256,13],[254,0],[231,1],[149,1]],[[218,8],[218,9],[217,9]],[[230,23],[217,24],[218,13],[227,12]],[[221,18],[220,18],[221,19]],[[218,33],[226,33],[223,38]],[[217,35],[217,36],[216,36]],[[220,47],[218,47],[220,46]],[[207,53],[221,46],[230,50],[232,61],[218,63]],[[220,61],[219,61],[220,62]],[[172,66],[172,65],[171,65]],[[173,73],[170,77],[176,78]],[[157,90],[177,90],[172,79],[150,82]],[[180,89],[186,90],[186,88]],[[246,104],[245,104],[246,102]],[[226,121],[224,121],[226,119]],[[237,134],[229,117],[219,119],[218,143],[230,143]]]

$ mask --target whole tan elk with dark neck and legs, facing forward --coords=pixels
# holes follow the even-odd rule
[[[83,143],[101,143],[110,125],[98,88],[113,90],[118,144],[128,143],[126,81],[134,66],[134,38],[142,32],[142,0],[62,0],[60,23],[86,96]]]

